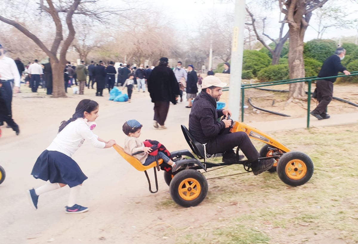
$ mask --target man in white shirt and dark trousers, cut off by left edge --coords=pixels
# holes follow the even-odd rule
[[[14,59],[6,57],[4,54],[3,46],[0,44],[0,80],[3,84],[3,89],[6,91],[6,103],[10,104],[10,115],[11,102],[13,101],[13,87],[15,92],[19,92],[20,88],[20,75],[19,70],[15,64]],[[0,118],[0,125],[3,125],[3,119]]]

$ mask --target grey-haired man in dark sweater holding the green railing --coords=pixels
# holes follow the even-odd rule
[[[345,49],[342,47],[337,48],[334,54],[324,61],[317,76],[320,78],[337,76],[338,72],[349,75],[350,72],[348,72],[347,69],[340,63],[340,61],[344,59],[344,56]],[[311,112],[311,115],[319,120],[328,119],[330,117],[326,113],[326,108],[333,98],[333,83],[335,80],[336,78],[317,80],[316,89],[318,106]]]

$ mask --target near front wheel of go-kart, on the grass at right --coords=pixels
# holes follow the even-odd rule
[[[303,152],[286,152],[277,162],[277,175],[287,185],[303,185],[311,179],[312,174],[313,162]]]

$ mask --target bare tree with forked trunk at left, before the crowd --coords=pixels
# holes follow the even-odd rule
[[[48,19],[49,25],[55,26],[55,35],[51,47],[47,47],[40,39],[37,29],[26,25],[22,13],[16,13],[14,9],[21,9],[26,4],[23,1],[2,1],[4,11],[0,15],[0,21],[13,25],[28,38],[32,39],[51,59],[53,73],[53,96],[66,97],[64,90],[63,69],[66,64],[66,53],[76,34],[73,26],[74,15],[86,16],[97,21],[110,19],[113,14],[122,15],[124,9],[103,6],[101,0],[38,0],[34,11],[23,8],[23,13],[32,13]],[[29,6],[29,3],[27,3]],[[21,18],[21,19],[19,19]],[[67,34],[65,37],[64,34]],[[59,58],[57,54],[59,52]]]

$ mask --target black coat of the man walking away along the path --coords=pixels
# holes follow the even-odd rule
[[[163,101],[176,104],[175,97],[180,94],[179,85],[171,68],[165,65],[155,67],[147,79],[152,102]]]

